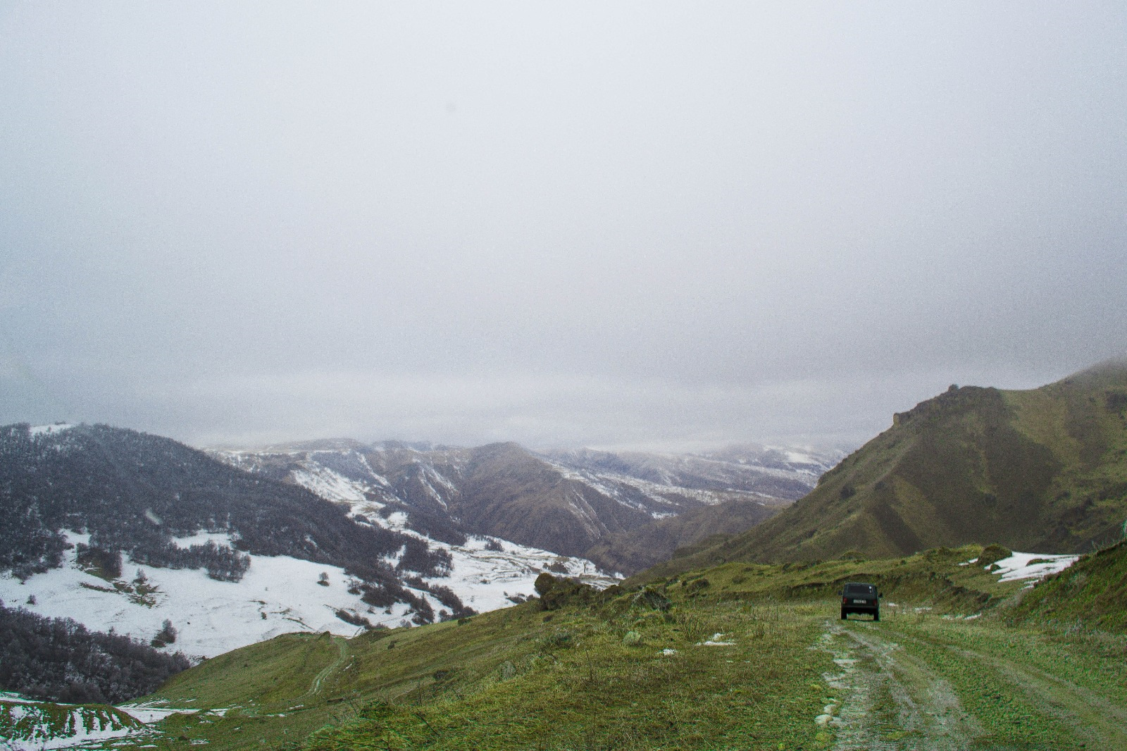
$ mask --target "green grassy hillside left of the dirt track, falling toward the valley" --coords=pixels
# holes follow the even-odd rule
[[[544,613],[530,603],[352,639],[343,662],[332,639],[281,637],[170,682],[152,698],[192,699],[199,712],[165,721],[144,743],[290,748],[329,723],[308,748],[814,748],[809,719],[825,689],[811,679],[831,666],[807,648],[814,615],[781,619],[778,608],[715,601],[668,618],[629,606]],[[623,643],[630,630],[637,645]],[[745,645],[692,646],[717,631]],[[322,690],[309,693],[319,673]],[[232,705],[223,717],[208,712]]]

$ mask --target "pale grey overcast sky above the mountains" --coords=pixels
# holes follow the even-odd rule
[[[1127,353],[1127,6],[0,6],[0,422],[854,443]]]

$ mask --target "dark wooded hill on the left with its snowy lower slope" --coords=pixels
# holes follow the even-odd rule
[[[163,648],[212,656],[287,631],[353,635],[496,609],[531,595],[548,569],[612,581],[442,518],[419,531],[367,500],[384,486],[350,454],[295,471],[300,483],[283,483],[100,425],[2,427],[0,600],[144,642],[168,622],[177,638]],[[397,479],[444,487],[428,467]]]

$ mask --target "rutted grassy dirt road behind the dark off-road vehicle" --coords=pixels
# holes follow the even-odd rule
[[[818,722],[838,751],[1127,749],[1127,707],[1031,660],[884,622],[825,629],[838,670]]]

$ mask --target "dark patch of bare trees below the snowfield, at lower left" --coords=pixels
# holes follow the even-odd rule
[[[189,666],[180,653],[165,654],[126,636],[89,631],[69,618],[44,618],[0,602],[5,690],[50,701],[115,704],[151,693]]]

